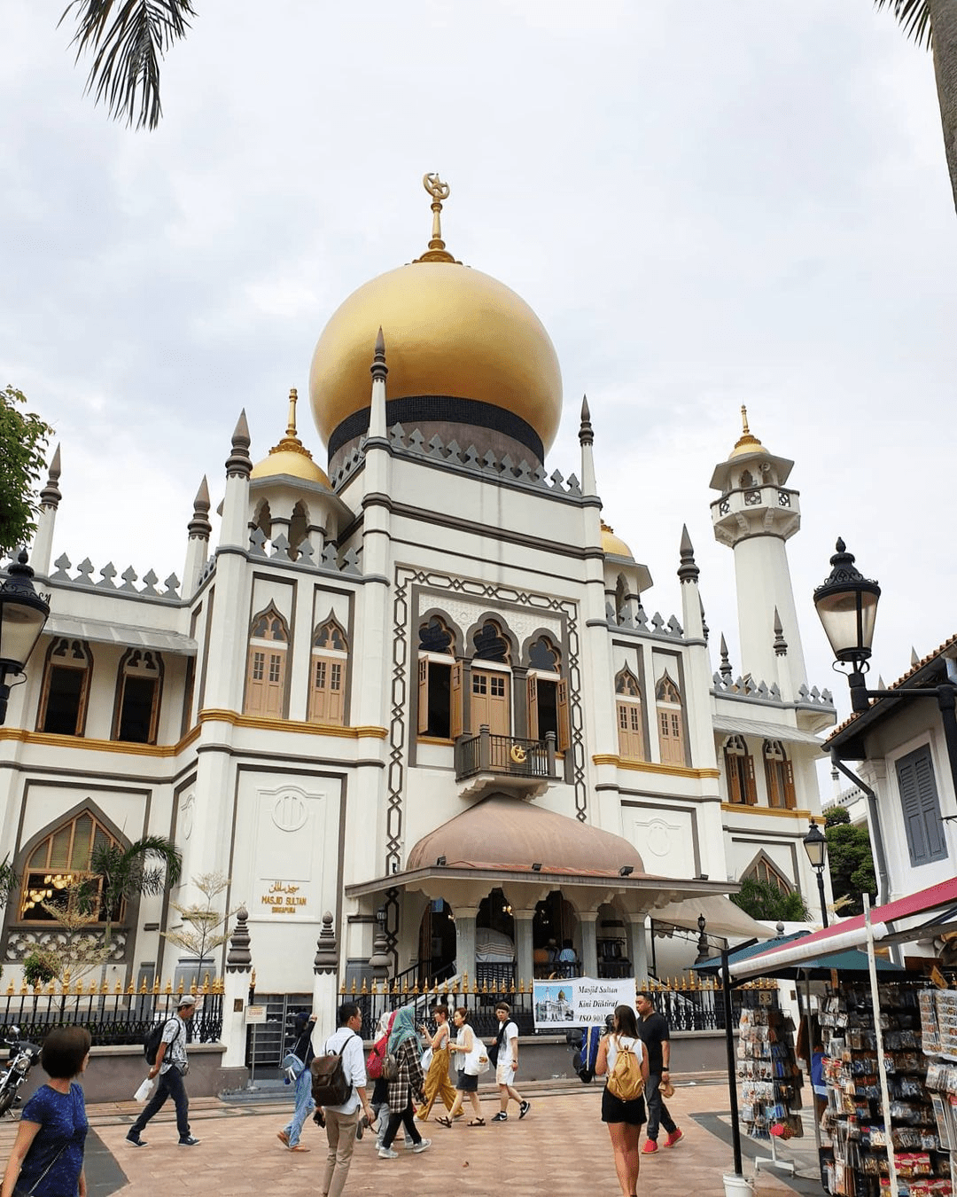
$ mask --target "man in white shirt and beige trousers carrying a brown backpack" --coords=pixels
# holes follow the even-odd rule
[[[352,1167],[355,1148],[355,1130],[359,1110],[364,1110],[370,1123],[376,1120],[366,1095],[366,1065],[362,1058],[362,1011],[355,1002],[343,1002],[339,1008],[339,1027],[325,1040],[323,1055],[316,1056],[312,1073],[312,1095],[321,1110],[316,1119],[325,1114],[325,1137],[329,1155],[325,1160],[322,1197],[340,1197]],[[340,1098],[341,1100],[330,1100]]]

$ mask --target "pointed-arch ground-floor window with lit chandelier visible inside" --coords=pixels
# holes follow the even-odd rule
[[[109,846],[117,840],[89,810],[62,824],[30,853],[23,870],[19,918],[24,923],[56,923],[56,916],[43,903],[66,900],[66,891],[90,875],[90,857],[95,847]],[[121,922],[122,904],[110,912]],[[100,905],[99,922],[105,922],[106,910]]]

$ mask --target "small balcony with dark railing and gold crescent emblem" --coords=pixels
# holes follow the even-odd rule
[[[476,798],[494,789],[537,798],[556,776],[554,731],[544,740],[519,740],[493,735],[482,724],[477,736],[462,736],[456,741],[459,797]]]

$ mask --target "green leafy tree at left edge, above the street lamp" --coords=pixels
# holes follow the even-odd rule
[[[36,530],[36,484],[53,433],[32,412],[19,411],[26,396],[16,387],[0,390],[0,553],[12,552]]]

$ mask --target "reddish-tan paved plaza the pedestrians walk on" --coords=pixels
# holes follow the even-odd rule
[[[498,1195],[520,1197],[617,1197],[618,1186],[608,1132],[601,1123],[598,1086],[529,1086],[532,1108],[519,1122],[483,1128],[455,1125],[452,1130],[429,1122],[423,1132],[432,1148],[421,1155],[404,1153],[397,1143],[397,1160],[379,1160],[374,1137],[356,1144],[346,1187],[348,1197],[422,1197],[423,1193]],[[482,1095],[486,1118],[498,1108],[488,1093]],[[669,1102],[684,1131],[684,1140],[670,1150],[642,1156],[640,1193],[694,1193],[724,1197],[721,1175],[731,1171],[727,1088],[721,1083],[678,1088]],[[514,1107],[513,1107],[514,1108]],[[89,1107],[93,1134],[87,1147],[90,1197],[110,1193],[129,1197],[189,1193],[190,1197],[252,1193],[256,1197],[316,1197],[317,1180],[325,1159],[325,1135],[306,1123],[303,1143],[309,1153],[291,1153],[276,1140],[292,1102],[226,1104],[214,1098],[191,1102],[193,1134],[202,1142],[182,1148],[176,1142],[172,1105],[147,1126],[148,1147],[124,1143],[127,1130],[139,1112],[134,1102]],[[13,1122],[0,1123],[4,1157],[16,1134]],[[754,1174],[751,1157],[767,1154],[767,1143],[744,1141],[746,1175]],[[799,1173],[809,1179],[772,1175],[761,1171],[757,1197],[786,1197],[797,1192],[821,1193],[813,1180],[813,1138],[785,1144],[782,1155],[796,1159]]]

